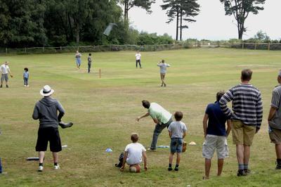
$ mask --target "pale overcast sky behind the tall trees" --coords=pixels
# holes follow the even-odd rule
[[[232,39],[237,38],[237,27],[233,15],[225,15],[224,6],[219,0],[198,0],[200,14],[197,22],[189,23],[189,29],[183,30],[183,39]],[[141,8],[131,8],[129,19],[131,25],[139,31],[168,33],[176,37],[176,21],[167,24],[166,11],[162,11],[162,0],[156,0],[149,15]],[[243,39],[254,37],[256,32],[266,32],[270,39],[281,39],[280,7],[281,0],[266,0],[264,10],[258,15],[249,15],[245,22],[247,32]]]

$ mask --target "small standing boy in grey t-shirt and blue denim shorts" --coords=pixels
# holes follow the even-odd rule
[[[183,138],[186,135],[186,125],[181,122],[181,119],[183,119],[183,113],[182,112],[176,112],[174,114],[174,117],[176,119],[176,122],[171,122],[169,125],[168,131],[169,136],[171,138],[171,153],[169,157],[169,167],[168,170],[171,171],[171,164],[173,163],[173,157],[174,153],[176,153],[176,167],[175,171],[178,171],[178,165],[181,161],[181,152],[183,149]]]

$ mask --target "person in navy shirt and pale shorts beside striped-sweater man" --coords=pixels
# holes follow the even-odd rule
[[[228,144],[226,138],[230,133],[230,120],[221,111],[218,101],[223,96],[223,91],[216,93],[216,102],[207,105],[203,119],[204,138],[202,155],[205,158],[205,176],[203,179],[209,179],[211,168],[211,158],[216,149],[218,157],[218,176],[223,171],[223,159],[228,157]],[[226,122],[228,129],[226,130]]]

